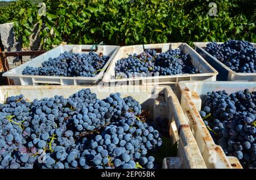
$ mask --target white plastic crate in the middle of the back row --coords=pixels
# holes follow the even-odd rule
[[[141,54],[144,49],[154,49],[156,52],[167,52],[170,49],[180,48],[184,53],[189,54],[192,58],[192,64],[203,71],[201,74],[180,74],[180,75],[167,75],[167,76],[150,76],[150,77],[133,77],[115,79],[115,63],[127,57],[127,54]],[[131,45],[122,46],[119,48],[117,54],[110,62],[110,65],[102,79],[102,82],[110,85],[131,85],[131,84],[161,84],[161,85],[177,85],[181,80],[207,80],[215,81],[218,72],[214,70],[194,49],[188,44],[183,42],[166,43],[166,44],[146,44],[146,45]]]

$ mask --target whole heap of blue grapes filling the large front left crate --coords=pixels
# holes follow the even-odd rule
[[[155,128],[139,119],[133,97],[100,100],[90,89],[64,98],[0,104],[0,169],[155,168],[150,152],[162,145]]]

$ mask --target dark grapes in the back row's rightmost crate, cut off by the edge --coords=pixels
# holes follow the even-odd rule
[[[256,72],[256,49],[250,42],[228,40],[223,44],[207,44],[207,52],[235,72]]]

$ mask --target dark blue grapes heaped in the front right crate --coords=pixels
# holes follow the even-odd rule
[[[256,91],[208,92],[200,115],[216,144],[245,168],[256,167]]]

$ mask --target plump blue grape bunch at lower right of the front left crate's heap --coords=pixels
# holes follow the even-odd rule
[[[154,157],[146,156],[152,148],[160,147],[159,132],[135,116],[121,118],[105,127],[88,141],[85,157],[89,166],[133,169],[139,165],[154,168]],[[92,156],[92,154],[94,156]]]

